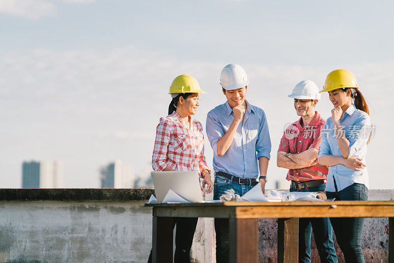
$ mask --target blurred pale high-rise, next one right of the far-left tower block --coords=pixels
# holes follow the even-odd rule
[[[129,164],[121,161],[100,168],[101,188],[133,188],[134,177]]]

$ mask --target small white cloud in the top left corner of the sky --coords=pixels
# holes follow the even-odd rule
[[[0,13],[38,19],[55,13],[55,4],[48,0],[1,0]]]

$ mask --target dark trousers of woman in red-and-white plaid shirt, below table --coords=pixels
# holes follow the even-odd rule
[[[174,218],[174,226],[176,224],[174,263],[190,262],[190,249],[192,248],[197,220],[198,218]],[[174,226],[172,226],[172,229],[174,229]],[[160,260],[158,262],[160,262]],[[152,263],[152,250],[149,255],[148,263]]]

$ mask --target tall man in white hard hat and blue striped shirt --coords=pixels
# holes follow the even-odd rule
[[[214,152],[214,199],[243,196],[258,182],[265,192],[271,152],[264,111],[246,100],[249,77],[236,64],[223,68],[220,84],[227,101],[208,112],[206,133]],[[260,176],[259,176],[260,172]],[[229,221],[215,218],[216,260],[229,262]]]

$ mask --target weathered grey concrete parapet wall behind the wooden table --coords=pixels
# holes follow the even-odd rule
[[[0,190],[0,262],[146,262],[152,210],[143,204],[152,190],[26,191]],[[393,199],[394,190],[369,192],[369,200]],[[259,231],[260,262],[276,262],[276,220],[259,220]],[[195,262],[216,261],[214,240],[212,219],[200,218],[192,247]],[[388,244],[388,219],[366,219],[366,262],[387,262]],[[320,262],[314,241],[312,257]]]

